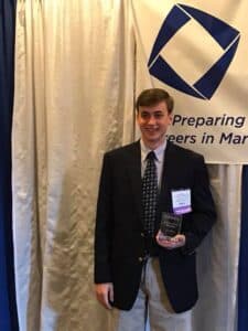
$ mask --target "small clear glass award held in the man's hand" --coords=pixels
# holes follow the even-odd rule
[[[162,213],[160,232],[163,238],[170,241],[175,235],[180,234],[182,227],[182,215]]]

